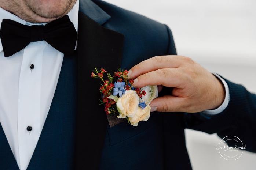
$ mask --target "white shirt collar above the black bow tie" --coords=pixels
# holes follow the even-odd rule
[[[72,10],[70,10],[69,13],[67,14],[70,18],[70,21],[73,22],[76,32],[78,31],[78,11],[79,11],[79,0],[77,0]],[[18,23],[21,23],[23,25],[28,25],[28,26],[37,25],[36,23],[26,22],[25,20],[20,19],[18,16],[11,14],[10,12],[0,7],[0,28],[1,28],[1,23],[3,19],[11,19]],[[45,24],[47,23],[43,23],[43,25]],[[76,43],[76,48],[77,48],[77,43]],[[3,51],[3,46],[2,46],[2,42],[0,41],[0,52],[2,51]]]

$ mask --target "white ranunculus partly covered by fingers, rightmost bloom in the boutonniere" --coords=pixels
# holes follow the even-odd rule
[[[140,90],[145,90],[146,92],[146,95],[140,98],[140,102],[145,102],[146,105],[149,105],[158,96],[157,86],[146,86],[142,87]]]

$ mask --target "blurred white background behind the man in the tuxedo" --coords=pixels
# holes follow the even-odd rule
[[[255,0],[105,1],[167,24],[179,55],[256,93]],[[194,170],[256,169],[254,153],[223,159],[216,150],[221,140],[216,134],[186,129],[186,139]]]

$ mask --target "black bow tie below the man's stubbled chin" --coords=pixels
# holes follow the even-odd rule
[[[72,54],[77,40],[76,29],[67,15],[45,26],[25,26],[3,19],[0,36],[5,57],[22,50],[30,42],[43,40],[64,54]]]

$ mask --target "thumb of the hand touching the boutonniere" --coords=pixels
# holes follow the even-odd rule
[[[182,97],[166,95],[155,98],[151,103],[151,112],[184,112],[185,100]]]

